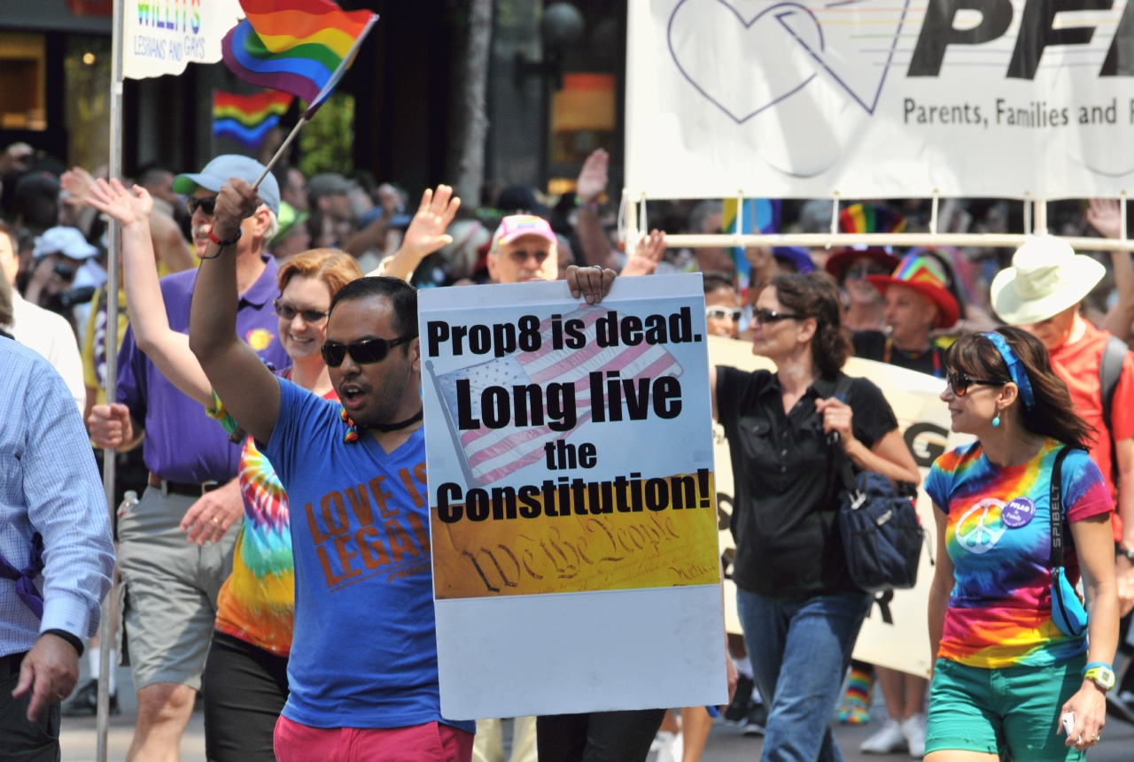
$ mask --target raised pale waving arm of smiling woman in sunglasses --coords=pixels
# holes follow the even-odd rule
[[[98,180],[87,195],[87,203],[121,225],[126,308],[138,349],[174,386],[201,404],[212,406],[212,386],[189,351],[189,337],[169,327],[150,234],[150,212],[153,209],[150,192],[141,186],[134,186],[130,192],[117,179],[109,183]]]

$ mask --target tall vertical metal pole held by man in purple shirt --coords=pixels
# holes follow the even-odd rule
[[[110,55],[110,177],[122,177],[122,2],[113,0],[113,31]],[[118,399],[118,246],[121,231],[118,222],[110,220],[110,251],[107,252],[107,402]],[[117,451],[108,447],[102,454],[102,488],[107,497],[107,512],[111,525],[115,505],[115,457]],[[98,745],[95,759],[107,762],[107,737],[110,730],[110,652],[113,644],[115,603],[117,585],[111,576],[110,592],[102,601],[102,620],[99,626],[99,693],[98,693]]]

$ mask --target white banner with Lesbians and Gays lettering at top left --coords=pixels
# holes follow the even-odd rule
[[[221,60],[220,41],[244,18],[239,0],[124,0],[122,77],[181,74]]]

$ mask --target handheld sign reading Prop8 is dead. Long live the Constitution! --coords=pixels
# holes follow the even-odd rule
[[[700,276],[424,290],[418,319],[442,714],[725,703]]]

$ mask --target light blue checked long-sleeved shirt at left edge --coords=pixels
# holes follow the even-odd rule
[[[0,554],[29,564],[43,537],[43,619],[0,579],[0,656],[27,651],[40,633],[83,639],[99,627],[115,548],[102,481],[67,384],[36,352],[0,339]]]

